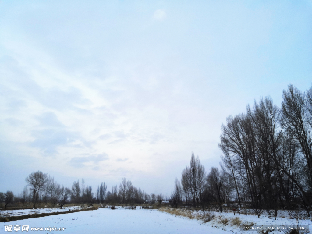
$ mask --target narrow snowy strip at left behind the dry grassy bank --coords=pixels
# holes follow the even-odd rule
[[[8,216],[20,216],[20,215],[27,215],[27,214],[41,214],[41,213],[53,213],[53,212],[64,212],[69,210],[79,210],[81,207],[79,206],[70,206],[70,207],[63,207],[60,208],[42,208],[42,209],[23,209],[23,210],[2,210],[0,211],[0,215],[2,217]]]

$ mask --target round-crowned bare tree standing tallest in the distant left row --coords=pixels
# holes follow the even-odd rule
[[[39,200],[39,192],[46,183],[46,178],[47,174],[44,174],[41,171],[32,172],[26,178],[26,182],[30,186],[30,190],[32,191],[32,201],[34,203],[34,208]]]

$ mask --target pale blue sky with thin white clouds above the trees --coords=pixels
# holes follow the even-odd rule
[[[312,84],[312,1],[0,1],[0,191],[41,170],[170,195],[221,124]]]

